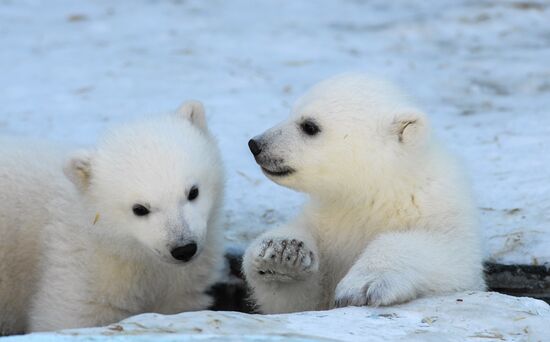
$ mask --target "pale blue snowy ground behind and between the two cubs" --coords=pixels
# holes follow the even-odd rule
[[[204,101],[237,245],[302,201],[262,176],[247,140],[326,76],[394,79],[465,160],[488,258],[550,263],[548,2],[0,0],[0,46],[0,134],[90,144]]]

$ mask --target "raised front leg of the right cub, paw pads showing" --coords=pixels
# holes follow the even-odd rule
[[[319,257],[313,238],[305,232],[287,227],[263,234],[245,252],[243,270],[263,313],[319,307]]]

